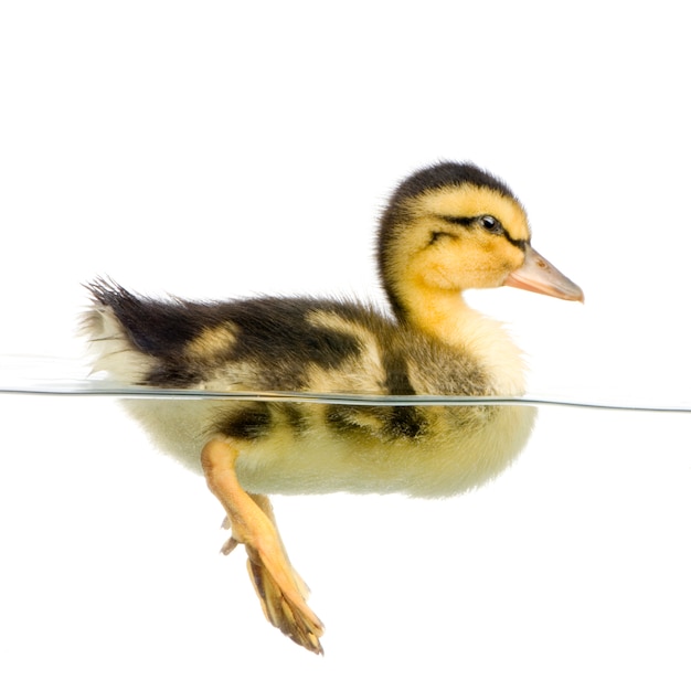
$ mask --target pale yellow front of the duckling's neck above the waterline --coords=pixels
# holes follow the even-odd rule
[[[503,326],[469,307],[458,291],[425,293],[416,296],[415,304],[405,306],[404,320],[480,363],[488,375],[490,395],[522,395],[522,354]]]

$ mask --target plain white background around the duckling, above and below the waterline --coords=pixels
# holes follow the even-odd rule
[[[584,306],[501,289],[530,389],[691,401],[678,2],[4,2],[0,353],[79,357],[81,284],[370,297],[395,183],[504,178]],[[276,498],[325,659],[108,400],[0,397],[0,687],[688,689],[690,418],[543,408],[447,501]]]

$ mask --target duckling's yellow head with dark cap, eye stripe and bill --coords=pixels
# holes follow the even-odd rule
[[[512,286],[564,300],[583,291],[531,245],[525,210],[470,163],[417,171],[395,190],[380,225],[380,276],[398,319],[468,288]]]

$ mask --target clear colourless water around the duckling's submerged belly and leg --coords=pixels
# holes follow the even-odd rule
[[[544,688],[691,679],[684,401],[155,392],[89,378],[83,361],[25,357],[1,359],[0,391],[0,639],[18,666],[40,650],[62,676],[79,666],[96,679],[107,651],[161,669],[172,653],[214,678],[230,670],[232,685],[228,656],[262,650],[296,678],[360,666],[422,683],[410,661],[423,650],[434,651],[424,681],[440,688],[458,660],[502,681],[501,670],[536,673]],[[520,458],[478,491],[274,499],[327,625],[316,667],[263,620],[242,556],[217,556],[225,535],[203,481],[148,444],[123,397],[481,402],[535,405],[539,417]]]

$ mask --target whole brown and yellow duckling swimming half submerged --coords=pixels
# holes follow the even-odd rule
[[[391,313],[355,301],[256,297],[153,300],[106,280],[85,316],[95,370],[131,384],[214,392],[519,396],[519,349],[464,300],[513,286],[565,300],[581,289],[531,245],[525,211],[470,163],[418,170],[392,194],[376,253]],[[130,400],[160,448],[202,471],[244,544],[266,618],[321,653],[267,495],[477,487],[524,446],[527,406],[375,406],[233,400]]]

